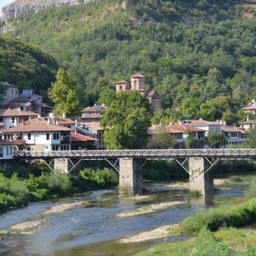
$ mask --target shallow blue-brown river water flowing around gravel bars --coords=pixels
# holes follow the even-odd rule
[[[186,189],[165,187],[168,182],[145,183],[152,191],[150,199],[141,201],[119,197],[117,189],[98,190],[77,195],[30,203],[0,215],[0,255],[133,255],[155,244],[186,237],[172,237],[165,240],[150,240],[138,243],[119,243],[118,240],[137,232],[155,229],[166,224],[177,223],[198,210],[213,205],[214,197],[220,195],[242,196],[243,186],[226,187],[219,194],[210,197],[189,197]],[[61,213],[42,216],[40,213],[56,205],[89,201],[82,207],[71,208]],[[170,201],[187,201],[191,208],[180,206],[165,208],[159,212],[123,219],[114,215],[142,206]],[[44,219],[42,227],[33,234],[12,233],[12,225],[27,220]]]

